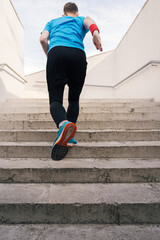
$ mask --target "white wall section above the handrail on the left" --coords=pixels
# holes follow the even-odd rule
[[[24,75],[24,29],[10,0],[0,0],[0,63]]]

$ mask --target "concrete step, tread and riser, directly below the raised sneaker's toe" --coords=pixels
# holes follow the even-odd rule
[[[0,159],[1,183],[160,182],[159,159]]]

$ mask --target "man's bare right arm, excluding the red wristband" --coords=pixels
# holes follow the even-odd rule
[[[90,17],[86,17],[86,18],[84,19],[83,24],[84,24],[85,28],[89,29],[92,24],[96,24],[96,23],[95,23],[95,21],[94,21],[93,19],[91,19]],[[99,36],[98,30],[95,30],[95,31],[93,32],[93,43],[94,43],[95,47],[97,48],[97,50],[100,50],[100,51],[103,50],[103,49],[102,49],[102,44],[101,44],[101,38],[100,38],[100,36]]]

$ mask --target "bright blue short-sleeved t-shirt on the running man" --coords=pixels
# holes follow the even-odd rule
[[[64,16],[51,20],[44,28],[50,33],[48,52],[56,46],[75,47],[84,50],[83,39],[89,29],[83,25],[85,17]]]

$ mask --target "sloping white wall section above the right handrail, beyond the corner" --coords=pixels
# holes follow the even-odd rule
[[[160,60],[159,23],[160,1],[149,0],[115,50],[116,83],[150,60]]]

